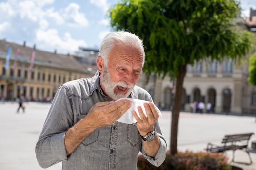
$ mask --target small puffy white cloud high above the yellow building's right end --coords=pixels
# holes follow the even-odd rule
[[[88,20],[86,19],[85,15],[83,13],[79,12],[80,6],[76,3],[70,3],[65,9],[64,9],[64,18],[65,21],[70,26],[82,26],[87,27],[88,26]]]

